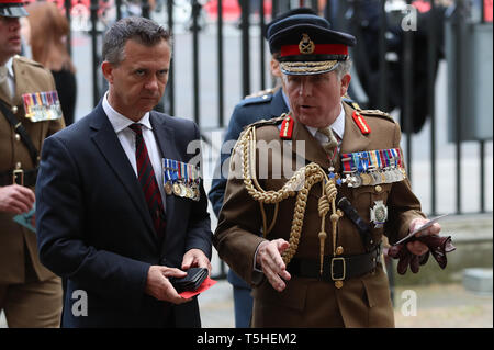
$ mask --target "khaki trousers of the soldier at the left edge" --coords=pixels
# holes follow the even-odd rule
[[[0,284],[0,311],[9,328],[57,328],[61,316],[61,280]]]

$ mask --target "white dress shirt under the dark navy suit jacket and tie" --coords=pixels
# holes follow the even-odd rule
[[[113,126],[113,129],[119,137],[119,140],[122,145],[122,148],[127,155],[128,161],[134,169],[135,176],[137,177],[137,161],[135,159],[135,133],[128,128],[130,125],[134,124],[134,121],[131,121],[126,116],[116,112],[108,102],[108,92],[103,98],[103,110],[106,113],[110,123]],[[147,153],[149,155],[149,159],[153,166],[153,170],[155,171],[156,181],[158,182],[159,193],[161,194],[162,204],[165,207],[165,189],[164,189],[164,173],[161,167],[161,153],[158,147],[158,143],[156,142],[155,134],[153,133],[153,125],[149,121],[149,112],[144,114],[141,121],[137,122],[141,124],[141,128],[143,129],[143,138],[146,143]]]

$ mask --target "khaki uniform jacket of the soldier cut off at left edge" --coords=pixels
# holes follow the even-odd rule
[[[0,90],[0,99],[11,108],[18,108],[15,117],[24,125],[41,154],[43,140],[61,129],[65,126],[64,120],[32,123],[25,117],[22,94],[53,91],[55,82],[49,70],[24,57],[14,57],[13,70],[15,95],[10,100]],[[23,170],[31,170],[36,166],[27,147],[0,112],[0,173],[15,169],[16,163],[21,163]],[[53,273],[40,263],[36,235],[16,224],[13,216],[15,215],[0,212],[0,284],[24,283],[26,271],[29,278],[37,278],[40,281],[53,278]]]

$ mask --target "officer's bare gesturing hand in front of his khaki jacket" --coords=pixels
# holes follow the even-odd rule
[[[283,251],[289,247],[290,244],[287,240],[279,238],[261,242],[257,250],[256,263],[262,269],[269,283],[278,292],[282,292],[287,287],[284,281],[291,279],[290,273],[285,270],[287,266],[281,258]]]

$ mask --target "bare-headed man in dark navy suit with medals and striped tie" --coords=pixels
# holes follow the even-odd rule
[[[202,181],[192,178],[200,149],[188,153],[198,126],[151,111],[170,55],[155,22],[116,22],[103,39],[109,91],[43,146],[37,238],[41,261],[68,279],[64,327],[200,327],[197,300],[169,280],[191,267],[211,271],[212,236]],[[162,168],[169,161],[175,170]]]

